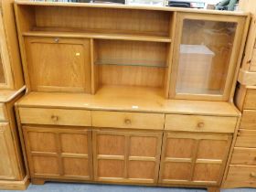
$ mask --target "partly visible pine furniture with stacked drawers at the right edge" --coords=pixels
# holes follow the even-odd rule
[[[240,9],[251,12],[251,25],[242,59],[235,103],[242,112],[240,128],[231,149],[224,187],[256,187],[256,5],[240,1]]]

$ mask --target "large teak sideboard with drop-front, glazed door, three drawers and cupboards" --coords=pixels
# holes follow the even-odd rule
[[[218,190],[249,15],[27,0],[15,11],[32,183]]]

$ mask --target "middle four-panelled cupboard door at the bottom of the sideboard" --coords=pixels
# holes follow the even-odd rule
[[[96,181],[155,184],[162,133],[92,131]]]

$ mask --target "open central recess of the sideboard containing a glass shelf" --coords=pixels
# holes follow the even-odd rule
[[[170,44],[100,39],[93,42],[98,87],[164,87]]]

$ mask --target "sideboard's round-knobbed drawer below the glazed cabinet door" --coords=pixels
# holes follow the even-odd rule
[[[236,117],[166,114],[165,130],[233,133]]]

